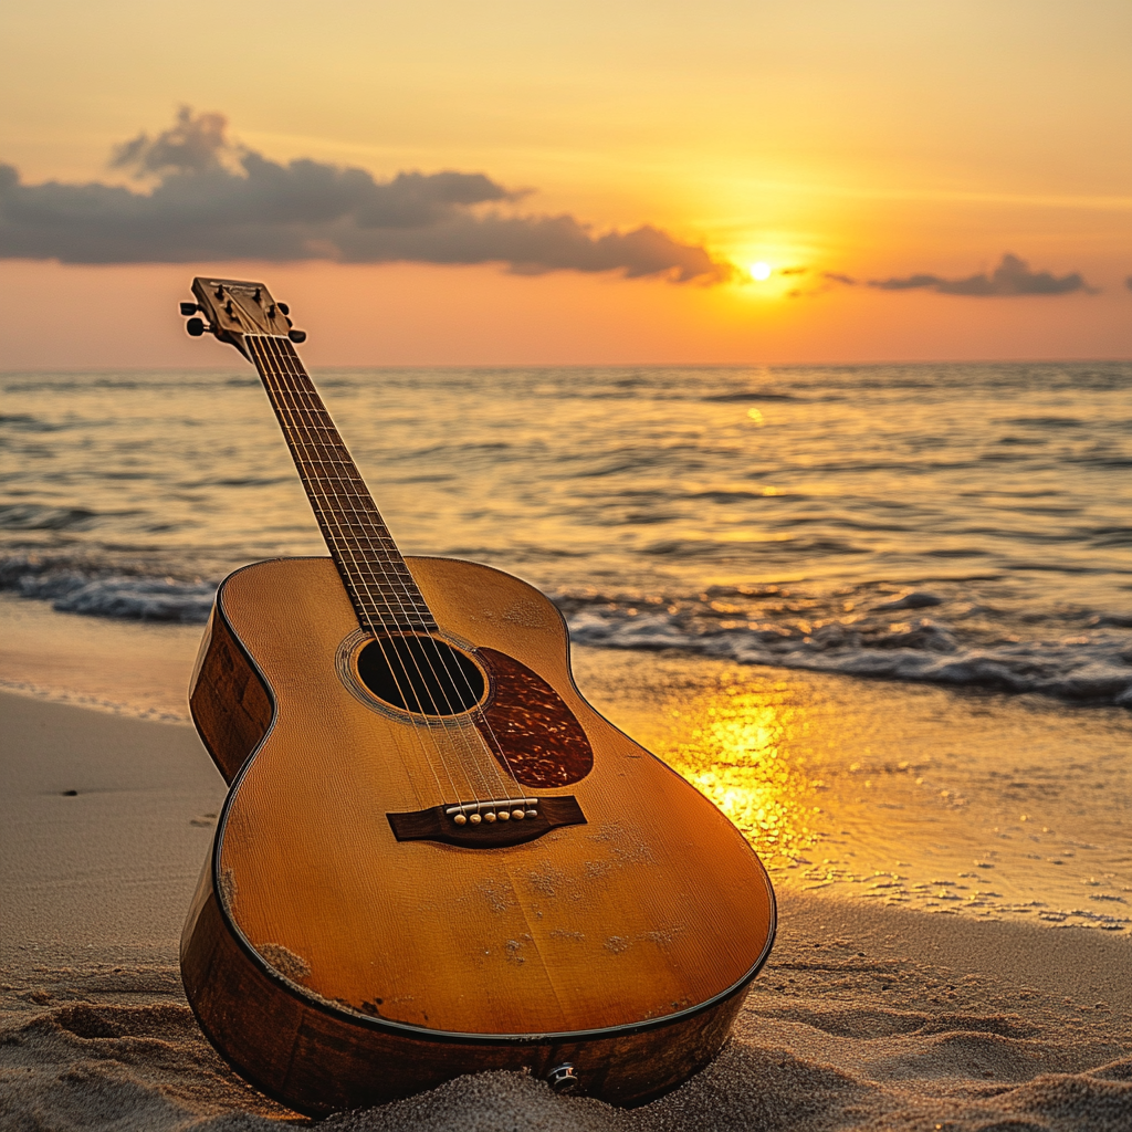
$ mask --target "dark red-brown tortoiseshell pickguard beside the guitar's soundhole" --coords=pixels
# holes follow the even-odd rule
[[[506,653],[478,649],[477,654],[491,669],[495,694],[475,726],[503,769],[523,786],[542,789],[585,778],[593,748],[561,696]]]

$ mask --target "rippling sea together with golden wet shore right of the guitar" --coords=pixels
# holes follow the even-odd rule
[[[538,585],[612,700],[654,681],[626,711],[781,868],[1127,926],[1132,365],[314,377],[402,549]],[[0,388],[14,629],[168,633],[325,552],[249,369]]]

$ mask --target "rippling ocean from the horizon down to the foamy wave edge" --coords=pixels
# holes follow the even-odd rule
[[[315,378],[402,549],[578,642],[1132,706],[1132,365]],[[0,384],[5,589],[203,623],[323,552],[254,374]]]

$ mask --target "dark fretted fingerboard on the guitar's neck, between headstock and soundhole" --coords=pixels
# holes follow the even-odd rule
[[[435,629],[432,614],[294,346],[267,334],[246,335],[245,342],[358,620],[378,633]]]

